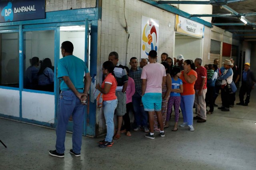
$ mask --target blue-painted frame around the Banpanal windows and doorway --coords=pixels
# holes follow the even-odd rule
[[[9,115],[4,115],[4,113],[0,113],[1,117],[6,117],[18,121],[23,121],[27,123],[34,123],[37,125],[44,125],[47,127],[56,127],[56,121],[54,124],[35,121],[31,119],[22,118],[22,91],[27,92],[36,92],[36,93],[44,93],[44,94],[53,94],[55,96],[55,118],[56,118],[56,110],[58,104],[58,90],[59,84],[56,78],[56,66],[58,65],[58,60],[60,56],[60,26],[69,26],[69,25],[85,25],[86,30],[88,30],[88,24],[91,25],[91,49],[90,49],[90,75],[93,77],[96,75],[97,69],[97,39],[98,39],[98,19],[101,17],[101,10],[98,8],[88,8],[88,9],[78,9],[78,10],[65,10],[65,11],[56,11],[56,12],[46,12],[46,18],[40,20],[28,20],[28,21],[15,21],[15,22],[6,22],[0,23],[0,33],[4,32],[19,32],[19,88],[12,88],[6,86],[0,86],[2,89],[11,89],[11,90],[19,90],[20,91],[20,117],[14,117]],[[24,31],[38,31],[38,30],[55,30],[55,82],[54,86],[56,87],[53,92],[42,92],[37,90],[28,90],[23,89],[23,32]],[[85,51],[85,61],[88,60],[87,52],[87,34],[86,31],[86,51]],[[88,64],[88,63],[87,63]],[[88,113],[87,113],[88,112]],[[84,117],[84,135],[96,137],[96,104],[95,102],[89,102],[86,107],[86,113]],[[55,119],[56,120],[56,119]],[[68,130],[72,129],[72,123],[69,123]]]

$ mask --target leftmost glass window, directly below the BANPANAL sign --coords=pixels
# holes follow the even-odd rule
[[[19,33],[0,33],[0,86],[19,87]]]

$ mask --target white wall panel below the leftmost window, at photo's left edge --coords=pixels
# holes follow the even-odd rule
[[[0,113],[20,117],[20,91],[0,88]]]

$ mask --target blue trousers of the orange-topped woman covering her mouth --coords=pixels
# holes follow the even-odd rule
[[[182,111],[183,122],[188,125],[193,125],[193,105],[195,94],[180,96],[180,108]]]

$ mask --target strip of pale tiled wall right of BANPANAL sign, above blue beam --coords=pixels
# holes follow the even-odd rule
[[[96,0],[46,0],[45,5],[45,12],[95,8]]]

